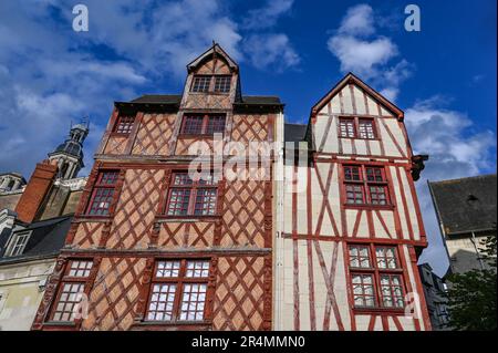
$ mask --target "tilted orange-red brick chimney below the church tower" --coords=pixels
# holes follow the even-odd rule
[[[58,166],[48,160],[37,164],[24,193],[15,206],[18,218],[24,222],[32,222],[46,194],[55,179]]]

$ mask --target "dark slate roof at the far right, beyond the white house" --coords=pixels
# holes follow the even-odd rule
[[[428,184],[447,236],[496,225],[496,174]]]

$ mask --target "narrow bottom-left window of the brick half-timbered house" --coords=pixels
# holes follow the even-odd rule
[[[91,260],[70,261],[53,307],[52,321],[74,321],[92,267]]]

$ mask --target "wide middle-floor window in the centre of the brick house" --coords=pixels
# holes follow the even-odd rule
[[[188,173],[175,173],[169,187],[166,215],[215,215],[217,188],[212,174],[207,178],[199,178],[195,181],[190,179]]]

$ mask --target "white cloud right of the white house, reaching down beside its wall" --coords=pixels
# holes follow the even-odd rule
[[[496,168],[491,155],[492,147],[496,147],[495,134],[490,131],[474,133],[473,120],[464,113],[446,108],[447,103],[443,97],[435,96],[417,102],[405,112],[414,152],[429,154],[426,168],[417,181],[417,194],[430,245],[421,261],[429,260],[440,276],[446,271],[448,261],[427,180],[475,176]]]

